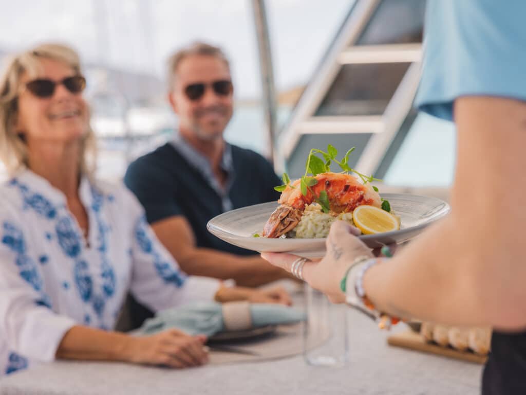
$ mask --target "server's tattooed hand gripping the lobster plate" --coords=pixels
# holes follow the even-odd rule
[[[312,288],[327,295],[333,303],[345,302],[345,294],[340,289],[340,281],[352,262],[359,256],[374,256],[356,236],[360,231],[343,221],[332,224],[327,236],[327,252],[320,261],[307,261],[303,268],[303,278]],[[286,253],[264,252],[261,256],[271,264],[290,272],[292,263],[298,256]]]

